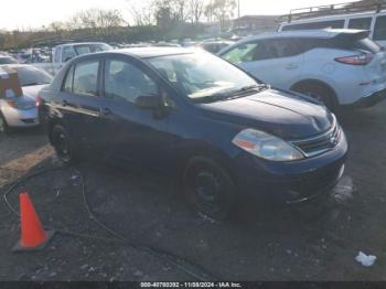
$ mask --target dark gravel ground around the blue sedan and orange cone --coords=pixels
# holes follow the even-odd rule
[[[197,216],[160,175],[92,161],[77,169],[93,211],[108,227],[136,244],[183,256],[219,279],[386,280],[386,103],[344,113],[341,124],[351,152],[345,175],[325,203],[249,204],[232,222]],[[21,175],[57,165],[39,130],[0,136],[0,152],[2,193]],[[33,178],[15,192],[21,190],[30,192],[45,226],[111,237],[89,217],[74,168]],[[10,203],[18,207],[17,194]],[[44,250],[13,254],[19,220],[3,201],[0,217],[0,280],[194,279],[164,259],[106,239],[56,234]],[[360,250],[377,256],[373,267],[355,261]]]

